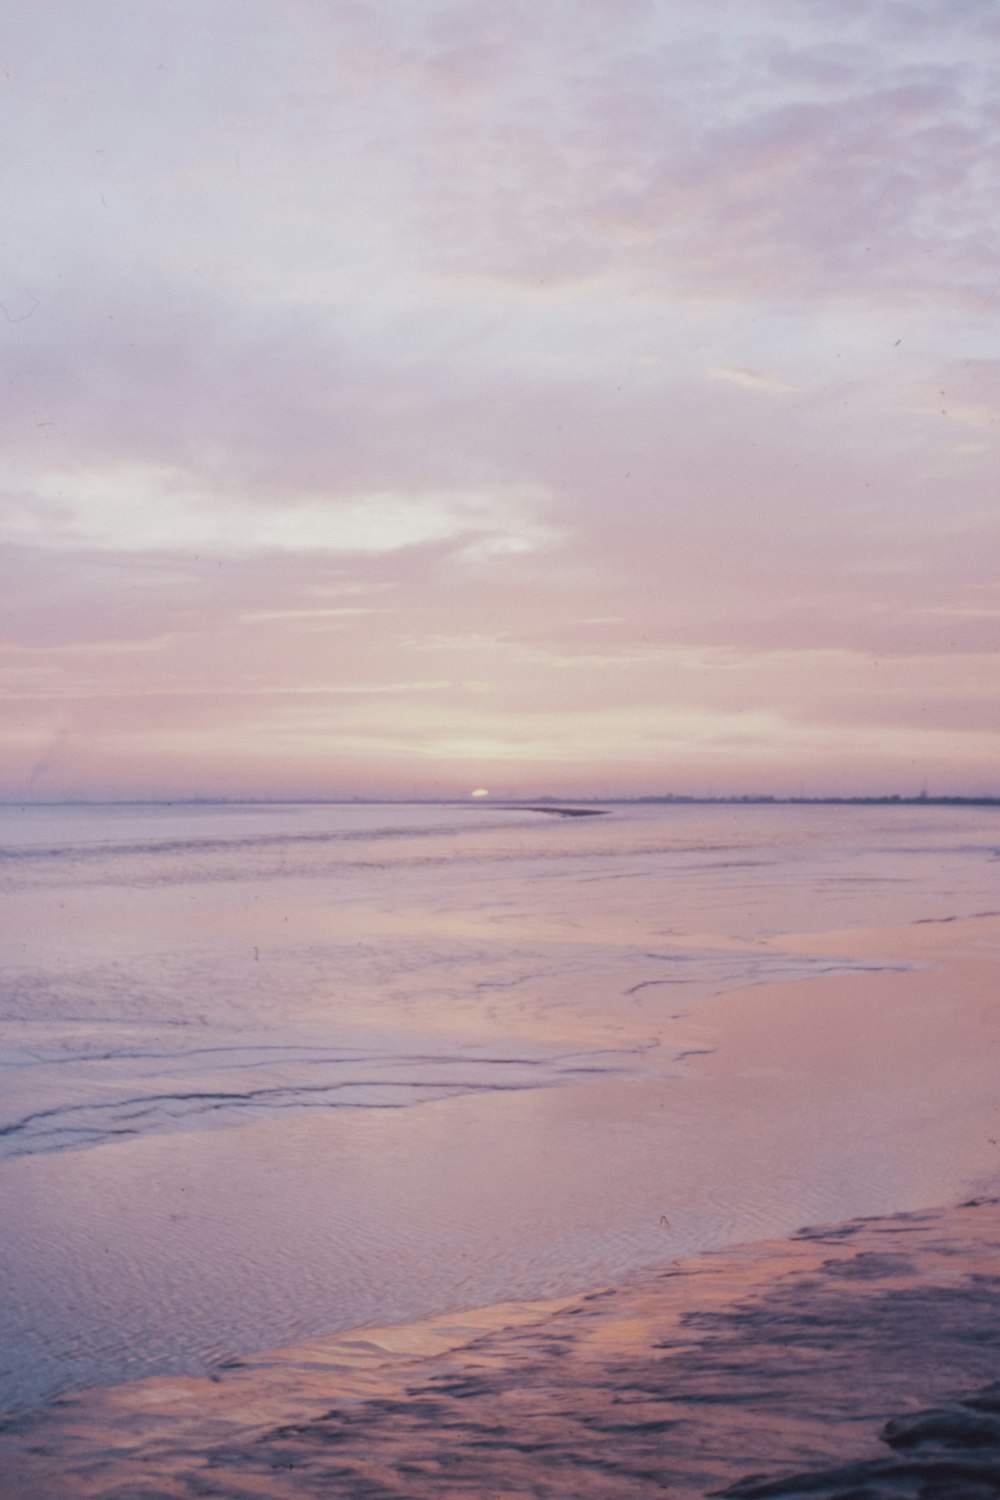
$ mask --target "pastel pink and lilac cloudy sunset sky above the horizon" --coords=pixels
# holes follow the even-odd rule
[[[0,100],[0,796],[1000,794],[996,0],[36,0]]]

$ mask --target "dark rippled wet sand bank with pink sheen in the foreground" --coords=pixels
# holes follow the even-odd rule
[[[975,1479],[987,1488],[969,1494],[988,1496],[999,1264],[1000,1198],[816,1226],[558,1302],[310,1340],[211,1380],[13,1413],[0,1488],[834,1500],[919,1496],[945,1467],[940,1494]]]

